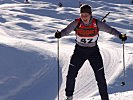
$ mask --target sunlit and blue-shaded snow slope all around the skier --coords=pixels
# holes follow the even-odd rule
[[[63,7],[58,7],[58,2]],[[92,6],[93,16],[123,34],[126,76],[123,77],[122,42],[100,32],[98,45],[103,57],[110,100],[133,98],[133,5],[130,0],[82,0]],[[79,0],[0,0],[0,100],[57,100],[58,66],[56,30],[79,17]],[[60,100],[75,35],[60,39]],[[125,81],[126,85],[121,86]],[[94,73],[85,62],[76,81],[74,100],[100,100]]]

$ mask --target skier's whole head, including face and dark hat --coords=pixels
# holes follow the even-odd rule
[[[85,23],[88,24],[92,16],[91,7],[87,4],[83,4],[80,7],[80,18]]]

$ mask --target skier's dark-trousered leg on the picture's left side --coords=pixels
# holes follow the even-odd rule
[[[75,88],[75,78],[77,77],[78,71],[85,62],[85,58],[81,57],[78,53],[74,52],[72,55],[67,81],[66,81],[66,96],[72,96]]]

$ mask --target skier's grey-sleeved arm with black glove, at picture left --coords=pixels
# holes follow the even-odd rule
[[[69,33],[71,33],[77,27],[77,25],[78,25],[77,21],[72,21],[66,28],[61,30],[61,32],[56,32],[55,37],[61,38],[63,36],[69,35]]]

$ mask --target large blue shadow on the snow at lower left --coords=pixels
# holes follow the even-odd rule
[[[56,57],[34,50],[0,45],[0,97],[6,100],[54,100],[57,96]],[[60,84],[62,75],[60,69]]]

